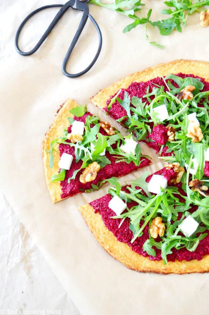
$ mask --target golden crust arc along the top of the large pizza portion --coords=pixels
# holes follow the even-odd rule
[[[194,74],[203,77],[209,82],[209,63],[195,60],[174,60],[167,63],[147,68],[141,72],[136,72],[126,77],[106,89],[102,89],[91,98],[94,105],[104,108],[107,106],[106,101],[111,95],[118,92],[119,89],[127,89],[132,82],[146,82],[155,77],[167,76],[170,73],[177,74],[179,72],[185,74]]]

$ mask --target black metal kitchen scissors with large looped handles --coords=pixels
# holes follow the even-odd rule
[[[75,77],[80,77],[82,76],[83,74],[85,74],[86,72],[88,72],[91,67],[95,64],[97,58],[99,57],[99,54],[100,54],[100,51],[101,51],[101,48],[102,48],[102,33],[100,31],[100,28],[98,26],[98,24],[96,23],[96,21],[94,20],[94,18],[91,16],[91,14],[89,14],[89,6],[88,6],[88,2],[89,0],[70,0],[68,1],[67,3],[65,4],[51,4],[51,5],[45,5],[41,8],[38,8],[36,10],[34,10],[33,12],[31,12],[26,18],[25,20],[22,21],[22,23],[20,24],[18,30],[17,30],[17,33],[16,33],[16,36],[15,36],[15,48],[17,50],[17,52],[19,54],[21,54],[22,56],[30,56],[32,54],[34,54],[38,49],[39,47],[41,46],[41,44],[45,41],[45,39],[47,38],[47,36],[49,35],[49,33],[52,31],[52,29],[55,27],[55,25],[58,23],[58,21],[61,19],[61,17],[63,16],[63,14],[69,9],[69,8],[73,8],[75,10],[80,10],[80,11],[83,11],[83,16],[81,18],[81,21],[80,21],[80,24],[78,26],[78,29],[74,35],[74,38],[70,44],[70,47],[67,51],[67,54],[66,56],[64,57],[64,60],[63,60],[63,64],[62,64],[62,71],[64,73],[64,75],[66,75],[67,77],[70,77],[70,78],[75,78]],[[30,51],[28,52],[23,52],[22,50],[19,49],[19,45],[18,45],[18,40],[19,40],[19,35],[20,35],[20,32],[22,30],[22,28],[24,27],[25,23],[36,13],[44,10],[44,9],[49,9],[49,8],[61,8],[58,13],[56,14],[56,16],[54,17],[54,19],[52,20],[51,24],[49,25],[49,27],[47,28],[47,30],[45,31],[45,33],[43,34],[43,36],[41,37],[41,39],[38,41],[38,43],[36,44],[36,46],[31,49]],[[67,62],[69,60],[69,57],[75,47],[75,44],[77,43],[79,37],[80,37],[80,34],[81,32],[83,31],[84,29],[84,26],[86,24],[86,21],[88,19],[88,17],[90,18],[90,20],[92,21],[92,23],[94,24],[94,26],[96,27],[96,31],[98,33],[98,36],[99,36],[99,46],[98,46],[98,49],[97,49],[97,52],[96,52],[96,55],[94,57],[94,59],[91,61],[90,65],[83,71],[79,72],[79,73],[75,73],[75,74],[71,74],[71,73],[68,73],[67,70],[66,70],[66,65],[67,65]]]

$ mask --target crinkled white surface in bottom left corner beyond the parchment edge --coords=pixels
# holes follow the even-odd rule
[[[0,231],[0,314],[79,315],[3,193]]]

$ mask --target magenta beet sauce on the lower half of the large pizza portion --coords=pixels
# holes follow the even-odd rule
[[[157,175],[163,175],[165,178],[168,180],[171,180],[174,176],[173,170],[166,170],[166,169],[161,169],[154,174]],[[151,179],[152,175],[148,176],[146,181],[149,182]],[[173,184],[168,183],[170,186]],[[185,195],[183,189],[181,188],[181,183],[175,185],[179,188],[179,192],[182,195]],[[128,191],[127,191],[128,192]],[[139,238],[136,238],[134,243],[131,243],[131,239],[133,238],[133,232],[129,229],[129,223],[130,219],[126,218],[124,222],[122,223],[121,227],[118,228],[120,222],[122,219],[111,219],[112,216],[115,216],[116,214],[114,213],[113,210],[111,210],[108,207],[109,201],[111,200],[111,195],[107,194],[103,196],[102,198],[96,199],[90,203],[91,207],[94,208],[95,213],[99,213],[102,216],[102,220],[107,227],[107,229],[111,232],[113,232],[114,236],[118,239],[119,242],[123,242],[128,244],[133,251],[135,251],[137,254],[142,255],[144,257],[149,257],[150,260],[162,260],[161,257],[161,250],[157,249],[156,247],[153,247],[156,251],[156,257],[153,257],[151,255],[148,255],[146,252],[143,251],[143,244],[146,242],[146,240],[149,238],[149,225],[147,225],[144,230],[143,230],[143,235]],[[183,198],[181,198],[183,202]],[[129,209],[136,205],[135,202],[131,202],[127,204]],[[194,212],[197,208],[195,206],[192,206],[189,211],[190,213]],[[181,217],[182,214],[179,214],[179,218]],[[140,226],[143,224],[143,222],[140,223]],[[209,231],[205,231],[209,233]],[[160,241],[160,238],[158,237],[156,241]],[[209,254],[209,234],[204,238],[202,241],[200,241],[199,245],[197,246],[197,249],[195,252],[190,252],[189,250],[182,248],[182,249],[172,249],[172,254],[167,255],[167,260],[168,261],[175,261],[177,259],[178,261],[190,261],[193,259],[201,260],[204,255]]]

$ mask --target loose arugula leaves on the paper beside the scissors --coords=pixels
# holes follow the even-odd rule
[[[189,15],[194,12],[200,12],[205,10],[205,6],[209,5],[209,0],[171,0],[164,1],[166,8],[162,10],[161,14],[169,15],[167,19],[161,19],[157,21],[151,21],[152,9],[150,9],[144,17],[142,15],[142,8],[145,7],[145,4],[141,0],[115,0],[111,4],[105,4],[101,0],[90,0],[90,3],[96,4],[107,9],[119,12],[133,19],[134,22],[127,25],[123,32],[129,32],[138,25],[150,25],[152,27],[157,27],[161,35],[170,35],[173,30],[182,32],[182,26],[185,26],[186,20]],[[137,12],[141,13],[141,16],[136,15]],[[146,29],[145,29],[146,30]],[[145,32],[146,34],[146,32]],[[148,36],[146,35],[146,39]],[[153,45],[156,45],[162,48],[162,45],[154,42],[150,42]]]

